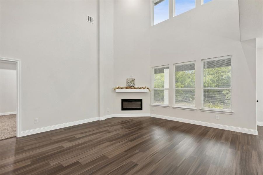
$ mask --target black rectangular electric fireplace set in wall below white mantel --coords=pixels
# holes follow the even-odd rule
[[[142,110],[142,99],[121,99],[121,111]]]

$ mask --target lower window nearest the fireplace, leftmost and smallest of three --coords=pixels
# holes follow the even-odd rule
[[[169,66],[152,68],[152,104],[168,105]]]

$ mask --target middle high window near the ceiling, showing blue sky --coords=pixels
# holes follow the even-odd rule
[[[174,4],[175,16],[195,8],[195,0],[174,0]]]

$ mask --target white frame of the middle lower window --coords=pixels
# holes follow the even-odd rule
[[[188,62],[182,62],[182,63],[174,63],[173,64],[173,108],[177,108],[177,109],[192,109],[192,110],[196,110],[196,100],[194,100],[194,105],[178,105],[175,104],[175,66],[176,65],[180,65],[180,64],[185,64],[185,63],[195,63],[196,61],[188,61]],[[196,69],[195,69],[195,74],[194,74],[194,88],[177,88],[177,89],[193,89],[194,90],[194,99],[196,99]]]

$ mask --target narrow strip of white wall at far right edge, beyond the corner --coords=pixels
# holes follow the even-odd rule
[[[257,122],[263,125],[263,48],[257,49]]]

